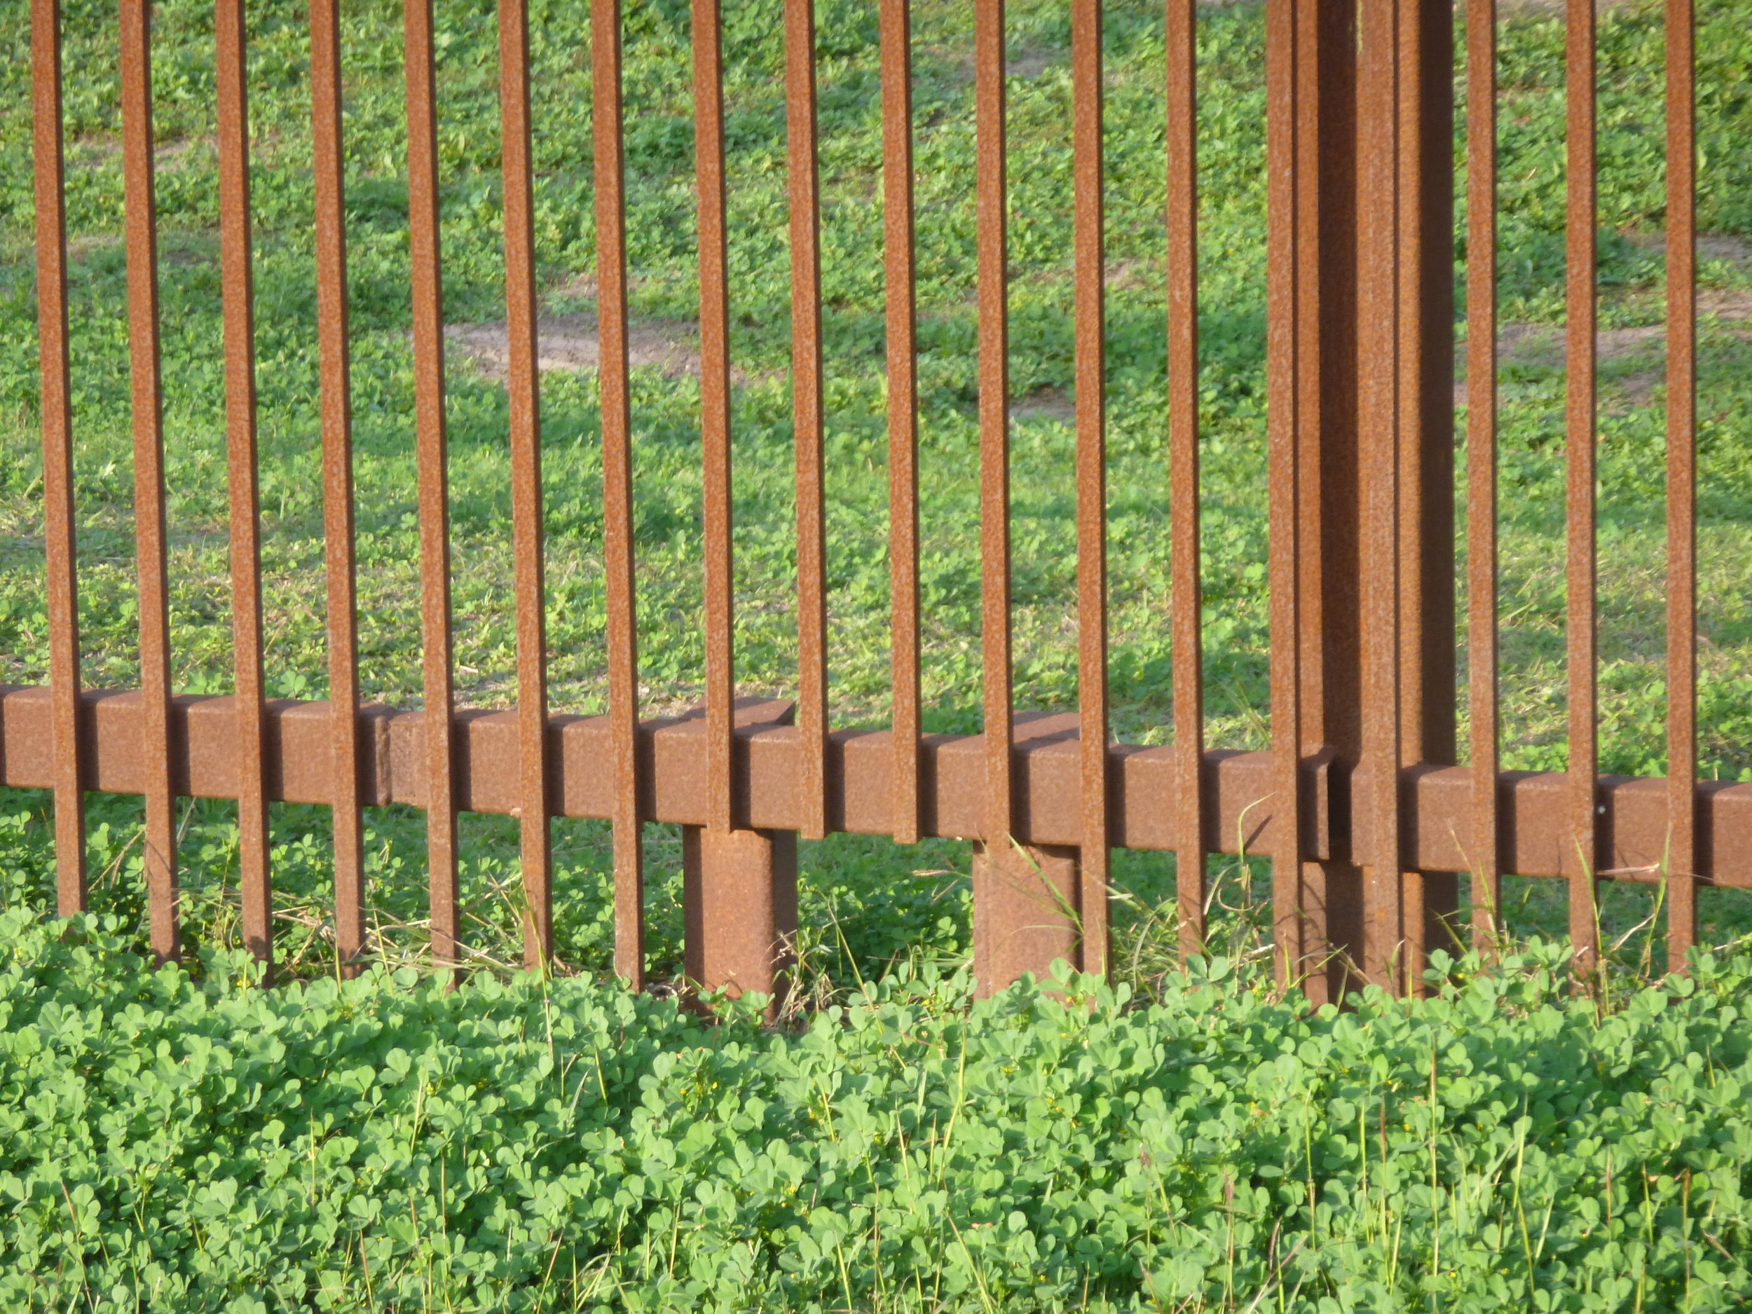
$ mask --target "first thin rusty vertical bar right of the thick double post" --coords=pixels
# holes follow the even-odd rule
[[[1466,4],[1466,668],[1472,937],[1501,937],[1496,773],[1496,0]]]

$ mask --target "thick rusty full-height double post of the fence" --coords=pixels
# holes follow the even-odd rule
[[[1328,746],[1339,780],[1382,745],[1396,778],[1454,757],[1452,16],[1433,0],[1277,4],[1270,131],[1291,180],[1270,215],[1286,261],[1272,401],[1293,431],[1296,550],[1275,578],[1295,578],[1295,720],[1300,753]],[[1354,783],[1372,790],[1372,848],[1398,853],[1398,781]],[[1365,864],[1389,874],[1365,881]],[[1279,936],[1312,1000],[1342,999],[1358,971],[1417,979],[1456,881],[1405,865],[1300,862]]]

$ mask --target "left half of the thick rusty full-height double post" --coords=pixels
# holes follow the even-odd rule
[[[1268,226],[1277,230],[1268,233],[1275,244],[1267,275],[1268,429],[1277,426],[1274,470],[1284,471],[1281,480],[1274,475],[1279,501],[1270,505],[1281,608],[1272,618],[1272,724],[1284,729],[1282,738],[1274,731],[1274,752],[1288,790],[1296,755],[1332,753],[1344,773],[1363,750],[1361,91],[1354,5],[1295,2],[1275,16],[1268,11],[1267,23],[1268,121],[1279,124],[1275,147],[1270,131],[1267,144],[1275,182],[1275,193],[1268,182]],[[1293,652],[1279,646],[1291,634]],[[1298,964],[1293,976],[1310,1000],[1340,1000],[1360,985],[1353,969],[1363,960],[1363,872],[1349,851],[1302,858],[1296,867],[1274,855],[1284,958]]]

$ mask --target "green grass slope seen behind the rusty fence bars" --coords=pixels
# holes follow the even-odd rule
[[[447,319],[503,315],[496,37],[491,4],[440,0],[440,138]],[[273,694],[326,692],[319,489],[315,287],[307,35],[296,0],[251,5],[251,96],[258,249],[261,487],[266,664]],[[1752,37],[1741,0],[1699,5],[1699,223],[1715,307],[1701,347],[1701,715],[1705,773],[1752,776]],[[533,9],[536,245],[555,312],[589,310],[594,261],[589,37],[585,7]],[[725,12],[731,152],[738,678],[787,694],[792,638],[792,450],[788,420],[788,252],[776,0]],[[827,487],[830,673],[836,724],[881,724],[888,704],[887,459],[880,116],[874,7],[820,5],[823,296],[829,375]],[[75,484],[86,682],[137,680],[128,343],[121,247],[121,159],[114,14],[67,5],[67,131],[74,331]],[[417,536],[408,349],[406,187],[399,5],[349,4],[349,259],[359,496],[361,662],[366,694],[419,704]],[[1072,433],[1063,401],[1070,350],[1070,119],[1067,14],[1014,4],[1009,18],[1018,703],[1076,699]],[[1663,224],[1659,7],[1601,14],[1603,324],[1661,319]],[[1263,26],[1258,5],[1200,14],[1202,342],[1198,398],[1204,477],[1205,676],[1211,743],[1261,746],[1265,697],[1263,496]],[[0,16],[0,678],[47,676],[42,596],[40,447],[35,419],[28,25]],[[1501,32],[1501,296],[1517,326],[1552,326],[1563,301],[1561,23],[1540,11]],[[979,724],[976,427],[972,305],[971,11],[915,7],[920,380],[927,729]],[[230,585],[223,378],[219,359],[217,175],[210,9],[156,9],[159,224],[163,245],[166,459],[172,526],[173,682],[230,689]],[[1113,554],[1113,720],[1128,741],[1165,738],[1167,643],[1165,252],[1162,219],[1162,14],[1107,7],[1109,408]],[[629,242],[634,314],[685,345],[696,314],[692,126],[687,9],[629,4],[625,33]],[[1461,215],[1463,221],[1463,215]],[[1465,252],[1461,251],[1461,256]],[[1461,270],[1463,275],[1463,270]],[[1601,760],[1659,774],[1663,683],[1663,389],[1659,340],[1628,333],[1608,350],[1601,387]],[[1505,764],[1565,762],[1563,703],[1563,361],[1517,347],[1503,366],[1503,701]],[[461,699],[513,696],[510,489],[505,392],[452,357],[449,380],[454,589]],[[643,370],[634,378],[641,680],[648,713],[701,689],[697,384]],[[590,375],[543,380],[552,703],[601,710],[606,689],[601,575],[601,464]],[[1465,471],[1459,471],[1463,478]],[[1465,652],[1461,652],[1465,657]],[[40,797],[19,862],[39,872],[47,830]],[[235,941],[235,829],[223,804],[191,804],[182,844],[196,939]],[[102,827],[109,827],[103,830]],[[95,804],[98,883],[117,915],[138,913],[138,808]],[[373,813],[371,899],[378,951],[413,960],[424,939],[417,813]],[[282,944],[322,971],[329,908],[326,816],[275,809]],[[496,818],[464,823],[471,936],[489,960],[513,962],[510,890],[517,858]],[[557,927],[568,965],[606,962],[603,829],[557,823]],[[678,953],[678,846],[653,834],[653,969]],[[1223,871],[1239,892],[1237,946],[1254,943],[1253,872]],[[930,872],[916,876],[915,872]],[[944,874],[946,872],[946,874]],[[916,851],[836,837],[806,846],[806,920],[829,974],[880,971],[918,939],[965,950],[965,850]],[[32,876],[35,880],[35,876]],[[1160,958],[1160,909],[1172,890],[1162,855],[1125,855],[1121,932],[1139,964]],[[837,892],[829,899],[829,894]],[[1563,929],[1561,887],[1521,885],[1522,930]],[[1228,895],[1225,895],[1228,897]],[[1614,890],[1621,930],[1647,913],[1645,890]],[[1614,902],[1615,901],[1615,902]],[[1715,911],[1719,909],[1719,911]],[[1720,937],[1745,929],[1727,894],[1706,918]],[[1654,927],[1659,930],[1659,922]],[[1614,932],[1617,934],[1617,932]],[[1142,939],[1139,939],[1142,937]],[[1638,951],[1638,939],[1626,951]],[[410,957],[412,955],[412,957]],[[1142,967],[1141,972],[1148,974]],[[1160,971],[1160,962],[1149,971]]]

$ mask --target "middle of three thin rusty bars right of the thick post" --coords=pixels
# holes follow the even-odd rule
[[[1570,788],[1575,834],[1565,848],[1570,878],[1570,943],[1575,969],[1591,971],[1598,950],[1594,888],[1596,776],[1600,773],[1598,696],[1594,689],[1596,550],[1594,550],[1594,0],[1568,0],[1568,522],[1566,639],[1570,666]]]

